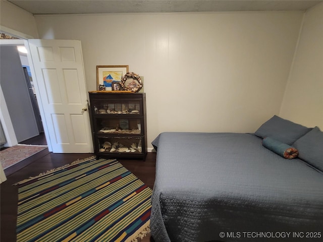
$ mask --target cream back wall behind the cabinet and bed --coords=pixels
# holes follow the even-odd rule
[[[148,144],[160,132],[254,132],[280,111],[303,13],[37,15],[40,38],[82,42],[96,65],[144,76]]]

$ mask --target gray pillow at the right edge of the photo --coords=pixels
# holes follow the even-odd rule
[[[298,158],[323,171],[323,132],[315,127],[303,137],[295,141]]]

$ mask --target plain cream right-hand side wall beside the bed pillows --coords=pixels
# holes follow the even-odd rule
[[[280,116],[323,129],[323,4],[305,14]]]

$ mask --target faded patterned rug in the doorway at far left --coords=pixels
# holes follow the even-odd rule
[[[44,150],[47,145],[15,145],[0,151],[0,160],[4,169]]]

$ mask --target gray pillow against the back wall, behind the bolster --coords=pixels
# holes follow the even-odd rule
[[[311,131],[310,128],[274,115],[260,126],[255,135],[260,138],[271,137],[282,143],[292,145],[309,131]]]

